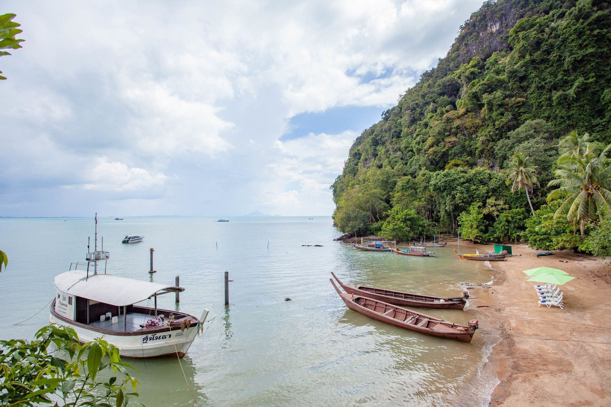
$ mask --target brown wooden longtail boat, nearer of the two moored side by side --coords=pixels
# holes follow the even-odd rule
[[[329,279],[329,281],[331,281],[335,291],[337,291],[349,309],[400,328],[440,338],[461,340],[463,342],[471,342],[473,334],[478,328],[477,320],[470,320],[469,326],[458,325],[373,298],[342,293],[337,288],[337,285],[335,285],[333,279]]]

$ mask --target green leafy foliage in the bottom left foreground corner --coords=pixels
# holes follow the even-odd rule
[[[126,406],[138,396],[138,381],[128,369],[133,367],[122,362],[119,350],[105,340],[81,345],[73,329],[44,326],[32,341],[0,340],[0,404]],[[115,374],[97,381],[107,370]]]

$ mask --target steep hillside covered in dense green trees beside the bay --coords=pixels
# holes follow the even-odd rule
[[[607,188],[609,60],[609,2],[485,2],[437,67],[354,141],[331,186],[338,229],[404,240],[459,229],[476,242],[596,252],[584,242],[611,200],[591,174],[562,180],[595,160],[589,171]],[[569,184],[585,191],[579,210]]]

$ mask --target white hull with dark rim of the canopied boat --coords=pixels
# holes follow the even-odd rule
[[[115,345],[119,349],[119,354],[123,358],[158,358],[161,356],[178,356],[183,358],[191,343],[197,335],[200,322],[193,322],[190,328],[185,328],[184,331],[177,326],[155,327],[150,331],[142,332],[103,332],[87,328],[88,325],[70,321],[67,318],[62,318],[56,314],[51,304],[51,315],[49,320],[57,325],[67,326],[72,328],[78,334],[79,342],[86,343],[95,338],[104,337],[108,343]],[[162,310],[159,310],[162,311]],[[171,312],[166,310],[165,312]],[[169,315],[169,314],[167,314]],[[192,317],[192,316],[191,316]],[[192,317],[197,320],[196,317]],[[151,332],[153,331],[153,332]]]

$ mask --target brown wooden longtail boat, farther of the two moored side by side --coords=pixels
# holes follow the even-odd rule
[[[335,273],[331,272],[331,275],[348,294],[360,295],[404,307],[464,309],[464,306],[467,304],[467,298],[469,298],[468,291],[463,292],[462,297],[443,298],[384,290],[383,288],[367,287],[366,285],[343,284],[343,282],[335,276]]]

